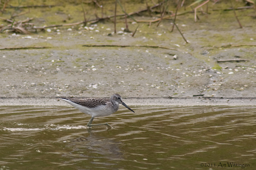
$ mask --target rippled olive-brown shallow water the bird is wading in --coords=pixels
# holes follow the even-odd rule
[[[0,107],[0,169],[256,168],[256,107],[131,108]]]

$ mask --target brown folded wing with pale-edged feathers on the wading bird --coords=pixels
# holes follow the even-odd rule
[[[106,105],[106,103],[109,101],[109,99],[102,99],[102,98],[87,98],[87,99],[64,98],[64,99],[70,100],[81,106],[85,106],[89,108],[97,107],[99,105]]]

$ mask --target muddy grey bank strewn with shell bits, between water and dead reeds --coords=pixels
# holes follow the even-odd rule
[[[79,25],[31,35],[1,33],[0,48],[47,48],[0,50],[0,105],[41,105],[42,100],[45,105],[64,106],[55,97],[109,98],[114,93],[133,106],[207,105],[206,98],[193,95],[214,98],[208,101],[211,105],[232,101],[233,105],[255,105],[256,22],[252,14],[253,10],[237,11],[242,29],[232,11],[211,11],[197,22],[193,14],[179,16],[177,24],[188,44],[177,29],[170,32],[171,20],[163,20],[158,27],[140,23],[134,37],[122,31],[122,22],[117,23],[119,34],[113,34],[111,22],[88,25],[90,30]],[[41,19],[35,22],[40,24]],[[137,25],[130,24],[129,29]],[[169,102],[169,98],[174,100]]]

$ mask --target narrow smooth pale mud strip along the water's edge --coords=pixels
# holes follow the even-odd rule
[[[256,106],[256,98],[217,98],[217,97],[190,97],[190,98],[126,98],[128,106]],[[58,98],[0,98],[1,106],[70,106]],[[70,106],[71,107],[71,106]]]

